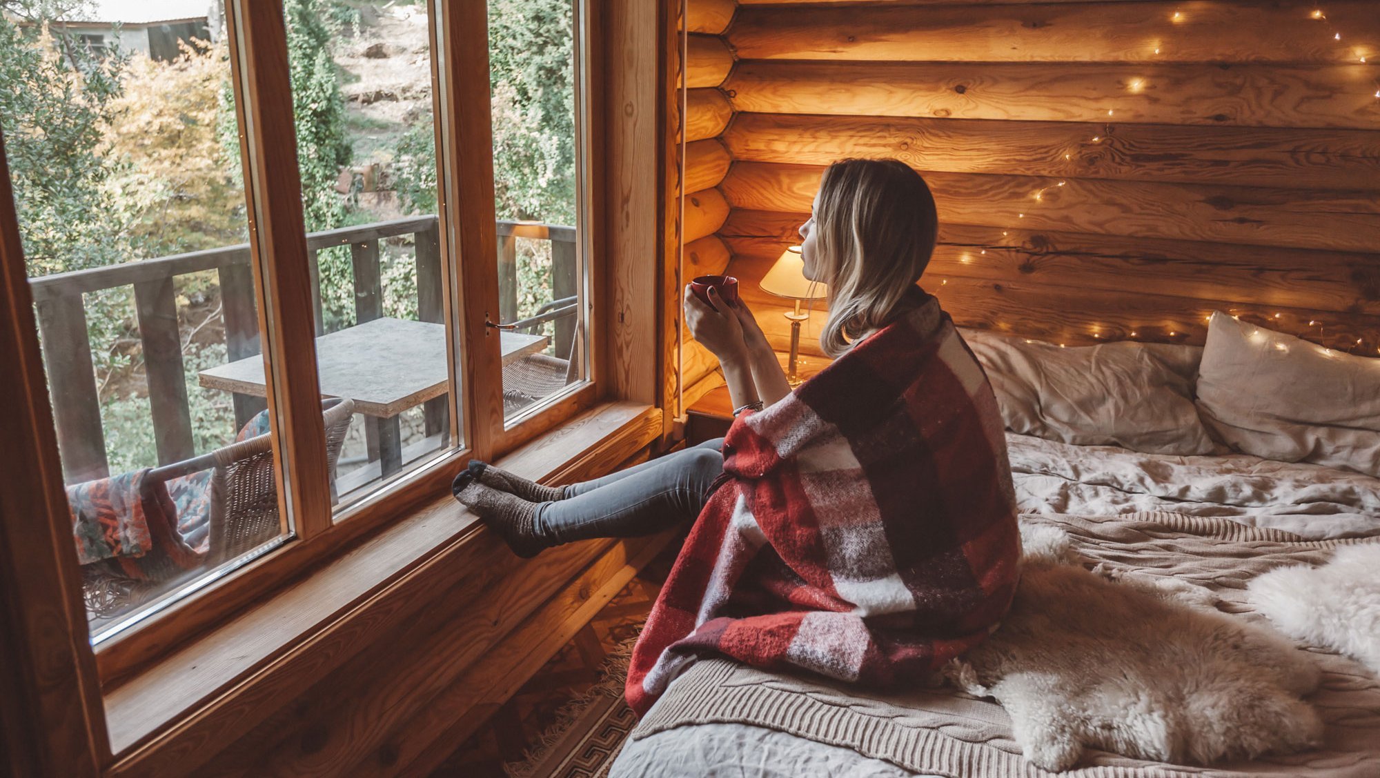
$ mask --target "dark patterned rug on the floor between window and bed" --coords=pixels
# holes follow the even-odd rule
[[[627,640],[604,662],[603,680],[558,715],[529,757],[508,764],[512,778],[604,778],[638,717],[622,699],[628,658],[636,639]]]

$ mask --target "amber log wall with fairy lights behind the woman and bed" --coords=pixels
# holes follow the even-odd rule
[[[799,241],[820,172],[897,157],[934,192],[943,229],[920,284],[959,324],[1202,343],[1221,309],[1374,356],[1380,14],[1315,11],[741,0],[720,36],[736,61],[718,90],[731,164],[713,237],[784,349],[787,308],[756,281]],[[718,148],[700,156],[707,177],[723,164]],[[687,223],[719,221],[718,194]]]

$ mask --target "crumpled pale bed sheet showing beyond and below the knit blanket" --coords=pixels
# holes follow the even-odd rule
[[[1380,479],[1245,454],[1173,457],[1007,433],[1024,513],[1221,516],[1310,539],[1380,532]],[[915,775],[835,745],[748,724],[628,739],[610,777]],[[919,777],[916,777],[919,778]],[[926,777],[927,778],[927,777]]]

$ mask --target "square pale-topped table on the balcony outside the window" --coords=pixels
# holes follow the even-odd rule
[[[545,335],[502,331],[502,363],[541,352],[549,342]],[[370,458],[378,458],[385,479],[403,466],[397,415],[446,395],[448,364],[446,327],[429,321],[374,319],[316,338],[322,396],[355,400],[355,411],[364,415]],[[264,397],[264,357],[203,370],[199,381],[208,389]]]

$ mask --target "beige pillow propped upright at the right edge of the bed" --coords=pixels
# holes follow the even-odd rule
[[[1217,310],[1208,324],[1198,410],[1236,451],[1380,477],[1380,360]]]

